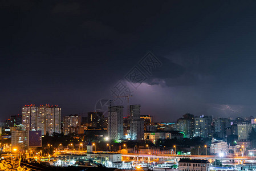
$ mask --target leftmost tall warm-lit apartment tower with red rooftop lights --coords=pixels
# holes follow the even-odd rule
[[[36,130],[36,110],[37,107],[34,104],[25,105],[22,107],[22,124],[25,125],[27,130]]]

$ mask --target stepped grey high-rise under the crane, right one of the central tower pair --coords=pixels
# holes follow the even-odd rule
[[[140,105],[130,105],[130,136],[131,140],[144,139],[144,121],[140,119]]]

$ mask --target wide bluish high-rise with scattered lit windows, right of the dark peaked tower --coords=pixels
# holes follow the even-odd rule
[[[194,136],[210,137],[212,136],[212,116],[200,116],[194,118]]]

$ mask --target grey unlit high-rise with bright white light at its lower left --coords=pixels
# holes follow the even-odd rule
[[[123,105],[108,107],[108,135],[111,140],[123,139]]]

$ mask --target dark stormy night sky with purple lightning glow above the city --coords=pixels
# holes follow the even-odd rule
[[[124,83],[142,115],[255,116],[255,1],[0,1],[1,121],[25,104],[94,111]],[[152,52],[161,64],[139,65]],[[132,68],[143,82],[125,79]],[[120,103],[117,99],[115,104]],[[126,109],[125,109],[126,115]]]

